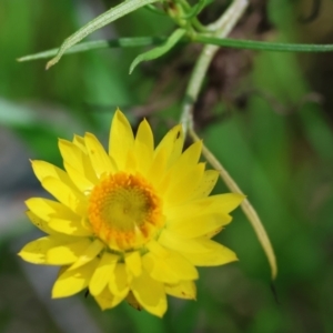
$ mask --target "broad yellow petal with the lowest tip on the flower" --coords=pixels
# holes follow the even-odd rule
[[[160,317],[163,316],[168,306],[163,283],[153,280],[142,271],[139,278],[133,279],[131,290],[144,310]]]

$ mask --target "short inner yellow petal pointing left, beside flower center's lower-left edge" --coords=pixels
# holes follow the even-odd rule
[[[78,216],[75,219],[51,219],[49,226],[58,232],[73,235],[73,236],[90,236],[92,235],[91,230],[87,229]]]

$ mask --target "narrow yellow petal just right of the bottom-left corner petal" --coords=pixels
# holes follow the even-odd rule
[[[110,276],[114,274],[113,271],[118,260],[119,260],[119,255],[111,254],[107,251],[103,253],[99,262],[99,265],[94,270],[94,273],[89,282],[89,291],[93,296],[99,295],[108,285],[110,281]]]

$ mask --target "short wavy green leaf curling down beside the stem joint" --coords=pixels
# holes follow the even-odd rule
[[[185,32],[186,31],[184,29],[176,29],[172,32],[172,34],[168,38],[168,40],[162,46],[139,54],[131,63],[130,74],[140,62],[157,59],[163,56],[164,53],[167,53],[168,51],[170,51],[178,43],[178,41],[185,34]]]

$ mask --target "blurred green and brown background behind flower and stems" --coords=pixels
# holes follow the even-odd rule
[[[315,0],[313,0],[315,1]],[[333,43],[333,1],[253,0],[232,37]],[[203,13],[210,22],[229,1]],[[22,262],[38,236],[23,201],[46,195],[29,159],[61,165],[57,138],[93,131],[107,141],[117,107],[133,127],[145,117],[157,138],[179,121],[201,47],[181,46],[128,69],[141,49],[112,49],[46,61],[16,59],[62,40],[118,1],[0,2],[0,332],[333,332],[333,57],[221,50],[195,105],[195,123],[258,210],[275,249],[270,271],[240,210],[219,241],[240,261],[201,269],[198,301],[170,299],[163,320],[128,304],[101,312],[83,293],[50,300],[57,270]],[[309,18],[309,20],[306,20]],[[89,39],[168,36],[167,17],[141,9]],[[222,182],[216,192],[226,191]]]

